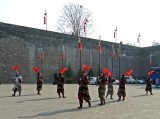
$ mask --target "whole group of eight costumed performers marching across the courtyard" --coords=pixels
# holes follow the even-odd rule
[[[43,84],[43,76],[41,75],[40,71],[37,72],[37,94],[40,95],[40,91],[42,90],[42,84]],[[65,79],[62,76],[62,73],[59,73],[59,76],[55,74],[55,79],[57,83],[57,93],[59,98],[66,98],[64,96],[64,84],[65,84]],[[13,94],[12,96],[16,95],[16,92],[19,92],[19,96],[21,96],[21,91],[22,91],[22,77],[19,75],[18,72],[16,72],[16,76],[14,78],[14,87],[13,87]],[[108,78],[105,77],[105,74],[103,72],[100,73],[99,79],[97,80],[98,84],[98,94],[100,98],[100,104],[99,105],[105,105],[105,98],[110,95],[110,99],[113,99],[113,82],[115,80],[109,76]],[[83,107],[83,100],[85,100],[88,103],[88,107],[91,107],[91,97],[89,94],[89,88],[88,84],[90,82],[90,79],[87,77],[86,71],[82,72],[82,76],[78,81],[79,84],[79,89],[78,89],[78,99],[79,99],[79,109]],[[106,94],[106,84],[108,85],[108,91]],[[122,100],[125,100],[126,97],[126,92],[125,92],[125,84],[126,84],[126,79],[124,75],[122,75],[120,81],[119,81],[119,87],[118,87],[118,100],[120,101],[121,98]],[[152,93],[152,80],[148,78],[146,80],[146,95],[148,95],[148,91],[150,92],[151,95]],[[105,96],[106,94],[106,96]]]

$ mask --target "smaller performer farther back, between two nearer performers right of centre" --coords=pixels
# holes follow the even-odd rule
[[[110,99],[113,99],[112,96],[113,96],[113,82],[115,80],[112,79],[111,76],[108,77],[108,81],[107,81],[107,84],[108,84],[108,91],[107,91],[107,95],[106,95],[106,98],[108,97],[108,95],[110,95]]]

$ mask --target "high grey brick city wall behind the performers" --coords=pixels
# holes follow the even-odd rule
[[[82,64],[87,64],[98,71],[98,40],[82,37]],[[41,66],[40,54],[44,51],[43,75],[46,82],[53,81],[54,73],[61,68],[61,52],[65,47],[66,60],[76,76],[79,69],[78,37],[34,29],[0,22],[0,81],[12,82],[15,75],[11,66],[21,64],[20,74],[26,83],[34,83],[33,66]],[[101,68],[111,70],[111,45],[118,48],[118,43],[102,41]],[[122,45],[121,74],[133,68],[133,77],[146,77],[149,70],[149,55],[152,54],[153,66],[159,66],[160,47],[139,48]],[[117,49],[116,49],[117,52]],[[124,55],[125,54],[125,55]],[[114,76],[118,78],[118,55],[114,57]]]

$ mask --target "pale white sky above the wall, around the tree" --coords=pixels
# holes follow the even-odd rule
[[[0,22],[44,29],[45,8],[48,30],[57,31],[56,23],[63,6],[78,3],[92,12],[94,32],[87,37],[151,46],[160,43],[160,0],[0,0]]]

